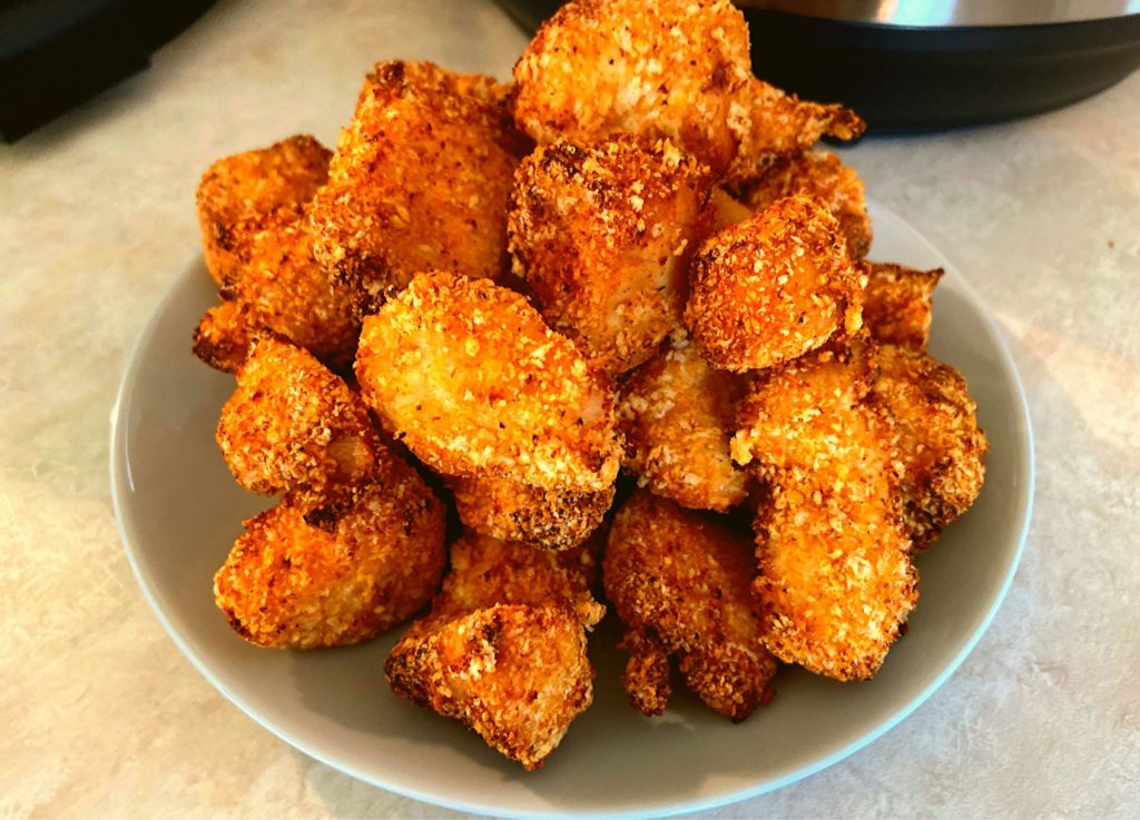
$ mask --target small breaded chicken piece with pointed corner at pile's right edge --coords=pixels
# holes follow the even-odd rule
[[[930,298],[942,268],[912,270],[888,262],[864,262],[863,321],[877,342],[926,350],[930,339]]]

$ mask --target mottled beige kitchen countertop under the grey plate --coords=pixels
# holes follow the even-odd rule
[[[197,253],[217,157],[326,142],[373,62],[507,76],[490,2],[222,2],[123,83],[0,146],[0,817],[458,817],[256,725],[178,653],[115,530],[107,418]],[[1067,109],[844,158],[1007,335],[1036,511],[990,631],[929,702],[807,780],[708,817],[1140,813],[1140,74]]]

